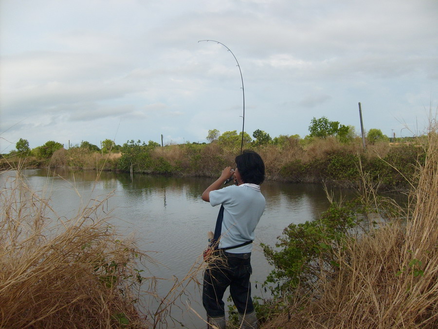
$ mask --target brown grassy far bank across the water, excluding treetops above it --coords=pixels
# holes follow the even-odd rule
[[[384,189],[406,189],[412,181],[418,162],[424,163],[424,150],[415,143],[390,144],[385,141],[362,147],[362,141],[347,143],[336,137],[302,140],[284,137],[281,143],[252,144],[266,164],[266,178],[287,182],[336,181],[345,186],[358,186],[359,168]],[[102,154],[87,148],[63,148],[51,158],[18,156],[0,162],[26,166],[71,167],[86,170],[111,170],[145,174],[190,175],[215,177],[223,167],[234,165],[240,148],[215,141],[211,144],[180,144],[164,147],[130,141],[121,153]],[[1,163],[0,163],[1,165]]]

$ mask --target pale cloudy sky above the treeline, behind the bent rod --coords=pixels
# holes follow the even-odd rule
[[[437,17],[437,0],[0,0],[0,153],[205,142],[243,108],[249,135],[322,116],[360,133],[359,102],[365,130],[420,135]]]

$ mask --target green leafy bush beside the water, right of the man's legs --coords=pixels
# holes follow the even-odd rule
[[[337,251],[348,231],[359,223],[355,207],[354,203],[332,203],[320,219],[290,224],[278,237],[275,248],[261,244],[269,264],[274,266],[263,285],[277,284],[270,287],[275,297],[293,295],[298,287],[310,292],[322,269],[337,271]]]

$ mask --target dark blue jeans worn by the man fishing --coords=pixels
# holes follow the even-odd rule
[[[219,259],[210,263],[204,272],[202,305],[207,315],[225,315],[223,294],[230,287],[230,295],[240,314],[254,310],[251,298],[250,276],[251,253],[231,253],[218,251]]]

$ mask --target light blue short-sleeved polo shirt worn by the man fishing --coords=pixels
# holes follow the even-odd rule
[[[237,246],[256,237],[255,230],[266,200],[256,184],[231,185],[211,191],[210,204],[215,207],[223,204],[222,232],[219,248]],[[230,253],[251,252],[252,244],[230,249]]]

